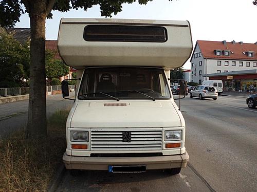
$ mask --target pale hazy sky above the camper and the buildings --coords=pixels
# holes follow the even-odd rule
[[[123,4],[122,12],[113,18],[188,20],[191,25],[193,45],[196,40],[257,41],[257,6],[253,0],[153,0],[147,5]],[[99,6],[68,12],[53,11],[46,20],[46,39],[57,39],[60,19],[101,18]],[[102,17],[104,18],[104,17]],[[29,28],[28,14],[20,18],[15,27]],[[190,69],[189,60],[183,67]]]

